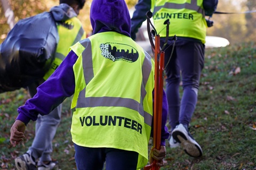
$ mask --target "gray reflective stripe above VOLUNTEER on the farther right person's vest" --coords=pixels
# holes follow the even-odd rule
[[[188,10],[194,10],[198,13],[201,13],[204,16],[204,9],[200,6],[197,6],[197,0],[191,0],[191,3],[184,3],[184,4],[175,4],[166,2],[163,6],[155,6],[153,15],[155,15],[161,8],[171,8],[171,9],[182,9],[186,8]]]

